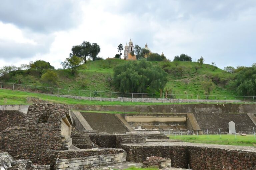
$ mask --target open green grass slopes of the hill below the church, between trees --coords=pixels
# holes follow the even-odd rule
[[[80,66],[80,70],[72,75],[69,70],[56,70],[59,77],[57,87],[70,90],[97,90],[97,91],[109,91],[117,92],[114,86],[109,87],[109,83],[106,81],[108,75],[113,75],[113,68],[124,62],[130,62],[120,59],[108,59],[89,61],[86,64]],[[209,64],[203,64],[202,68],[197,71],[195,67],[198,65],[196,62],[153,62],[153,64],[160,65],[162,68],[183,67],[182,76],[179,72],[174,75],[172,72],[168,74],[168,83],[166,88],[173,88],[175,94],[188,94],[188,95],[204,95],[204,90],[201,87],[201,82],[206,80],[209,76],[221,75],[229,76],[224,70],[216,68],[213,71],[213,66]],[[20,76],[22,75],[22,76]],[[37,85],[37,86],[49,86],[44,84],[37,70],[32,70],[31,74],[27,74],[22,70],[13,76],[13,73],[8,73],[6,76],[0,77],[0,82],[18,83],[18,78],[21,79],[21,84]],[[190,83],[185,88],[183,82],[184,79],[189,79]],[[82,87],[82,81],[85,82],[85,87]],[[148,92],[150,93],[150,91]],[[221,85],[216,84],[210,95],[236,95],[234,91],[229,90],[228,85],[224,88]]]

